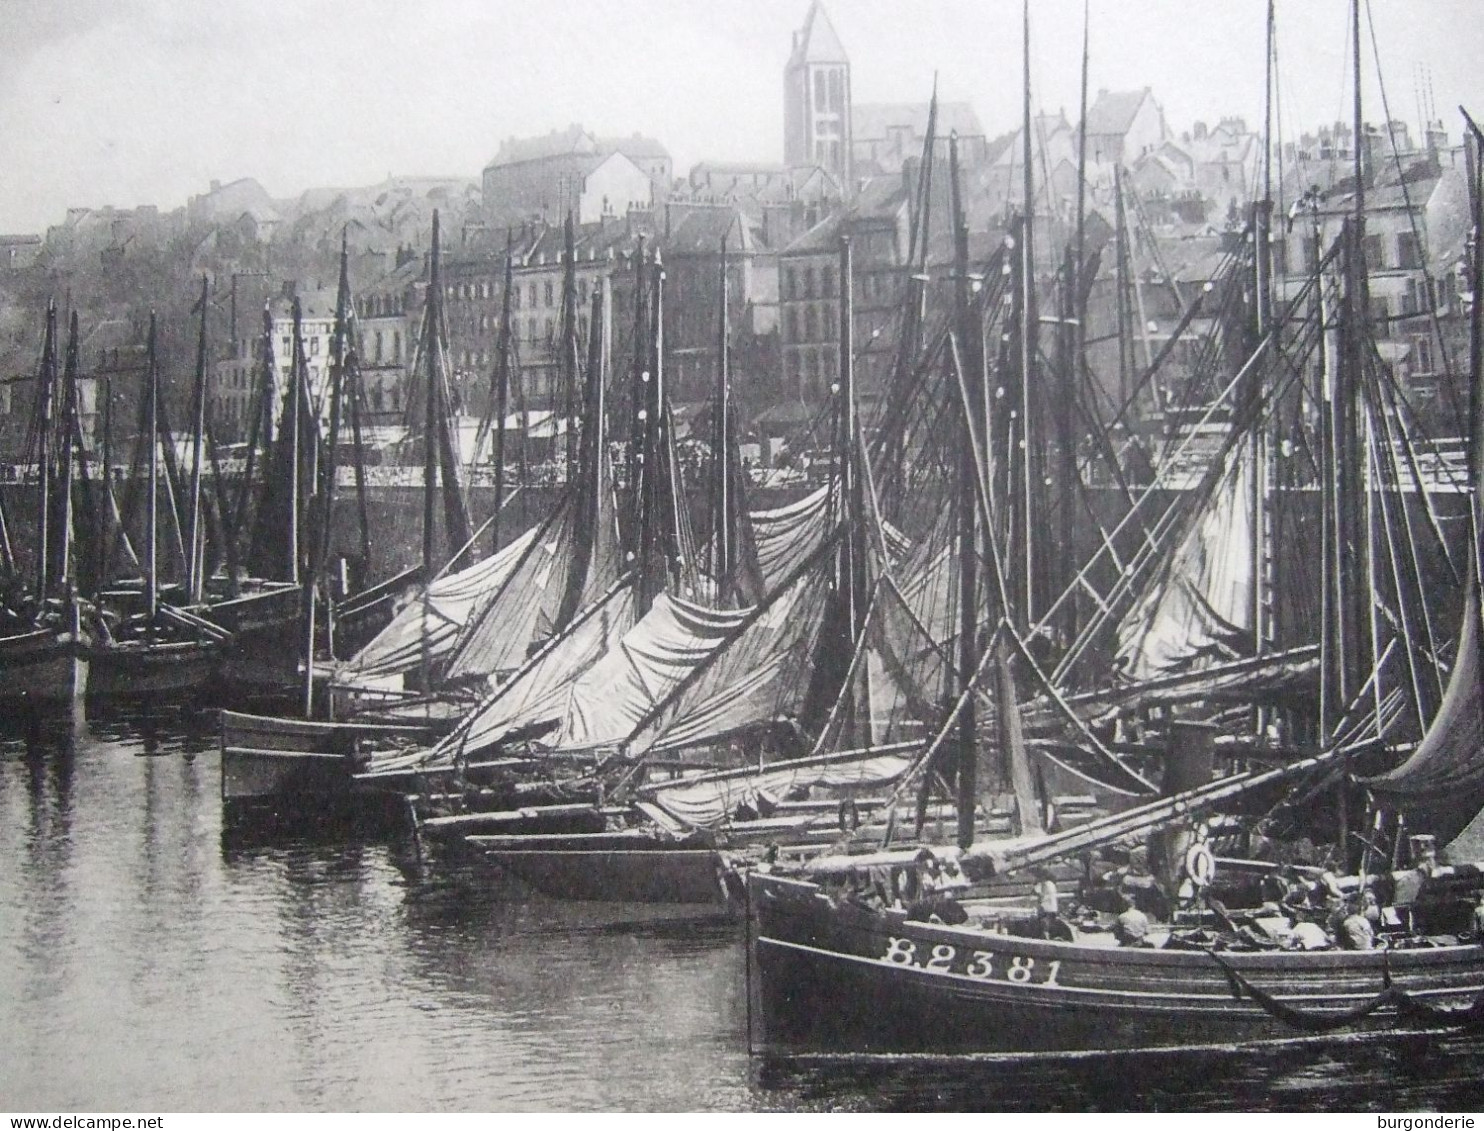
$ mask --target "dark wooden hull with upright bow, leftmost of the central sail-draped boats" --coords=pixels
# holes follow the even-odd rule
[[[322,810],[364,793],[367,741],[413,738],[407,727],[221,712],[221,800],[229,807]]]

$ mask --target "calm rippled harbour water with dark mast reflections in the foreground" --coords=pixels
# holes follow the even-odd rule
[[[0,735],[0,1109],[1477,1109],[1484,1039],[760,1063],[742,928],[224,836],[215,715]],[[849,1003],[841,1003],[849,1008]]]

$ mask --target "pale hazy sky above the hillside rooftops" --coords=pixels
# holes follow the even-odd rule
[[[1088,0],[1091,88],[1150,86],[1178,134],[1263,119],[1266,0]],[[476,178],[500,141],[580,122],[703,159],[781,160],[807,0],[0,0],[0,232],[70,206],[275,197],[387,174]],[[1021,105],[1020,0],[825,0],[856,101]],[[1349,119],[1349,0],[1278,0],[1285,137]],[[1031,0],[1037,108],[1077,117],[1083,0]],[[1484,114],[1484,0],[1362,0],[1367,119],[1457,140]],[[1377,82],[1377,53],[1380,79]]]

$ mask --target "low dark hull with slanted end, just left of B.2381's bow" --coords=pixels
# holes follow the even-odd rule
[[[724,861],[711,848],[623,833],[476,836],[469,842],[487,862],[556,899],[631,904],[730,899]]]

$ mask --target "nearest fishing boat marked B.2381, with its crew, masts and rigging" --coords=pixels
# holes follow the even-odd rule
[[[1352,21],[1359,132],[1358,4]],[[1025,36],[1028,70],[1028,19]],[[1484,138],[1475,132],[1474,141],[1477,153]],[[1484,194],[1477,162],[1471,180],[1478,233]],[[1417,623],[1408,619],[1416,616],[1408,597],[1417,586],[1389,568],[1395,558],[1380,548],[1382,524],[1362,521],[1367,512],[1395,506],[1399,493],[1396,479],[1373,469],[1385,462],[1359,426],[1368,420],[1382,427],[1389,419],[1368,401],[1377,384],[1367,338],[1365,184],[1356,154],[1353,212],[1336,246],[1316,255],[1321,263],[1304,300],[1319,315],[1328,346],[1318,350],[1322,395],[1303,393],[1313,396],[1313,419],[1327,438],[1318,468],[1327,500],[1327,567],[1316,603],[1319,709],[1301,744],[1307,750],[1270,750],[1263,761],[1276,766],[1217,775],[1214,742],[1223,727],[1187,717],[1169,724],[1166,796],[1073,828],[1022,827],[996,839],[975,828],[975,760],[963,757],[956,767],[954,843],[907,850],[844,845],[752,870],[746,898],[754,1051],[1083,1054],[1484,1024],[1484,919],[1475,913],[1484,905],[1484,870],[1442,862],[1434,840],[1454,842],[1480,812],[1477,471],[1484,429],[1475,404],[1466,600],[1447,687],[1426,717],[1429,698],[1414,678],[1416,665],[1437,653],[1422,640],[1426,632],[1408,631]],[[1027,212],[1030,200],[1027,191]],[[1260,202],[1258,246],[1267,242],[1263,214]],[[1480,286],[1477,251],[1472,267]],[[1239,377],[1260,368],[1284,325],[1301,321],[1294,313],[1290,306],[1261,321]],[[1475,346],[1480,328],[1475,309]],[[1478,368],[1475,352],[1475,381]],[[1282,395],[1258,380],[1244,383],[1250,407]],[[982,451],[972,435],[976,413],[969,411],[978,401],[972,386],[966,389],[965,447]],[[1217,463],[1232,466],[1242,442],[1233,433]],[[993,509],[984,506],[981,515],[988,519]],[[1199,524],[1190,515],[1187,530]],[[985,533],[993,539],[988,522]],[[997,552],[985,558],[991,566],[1003,560]],[[1166,567],[1166,577],[1174,568]],[[1144,603],[1125,626],[1149,635],[1149,626],[1171,613],[1171,606],[1162,613],[1158,604]],[[1377,628],[1377,606],[1398,610],[1385,631]],[[996,637],[1012,646],[1020,640],[1006,622]],[[1028,666],[1031,658],[1024,656],[1021,668]],[[1410,711],[1392,690],[1398,684],[1417,692]],[[1006,690],[1002,683],[994,711],[1002,720],[999,747],[1014,766],[1021,709]],[[1422,733],[1408,741],[1407,726],[1419,718]],[[968,753],[972,730],[962,718],[959,730]],[[1398,751],[1401,761],[1391,769],[1358,769],[1395,763]],[[1370,791],[1371,803],[1367,818],[1353,822],[1358,787]],[[1306,836],[1328,825],[1334,843],[1303,862],[1303,845],[1313,845],[1306,837],[1285,842],[1285,822]],[[1017,877],[1018,892],[1008,883]],[[1068,904],[1071,892],[1063,889],[1071,888]]]

